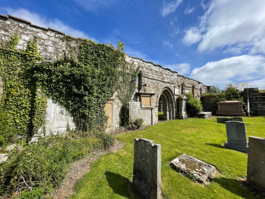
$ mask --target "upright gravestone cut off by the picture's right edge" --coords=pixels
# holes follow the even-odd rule
[[[249,136],[247,184],[265,192],[265,139]]]

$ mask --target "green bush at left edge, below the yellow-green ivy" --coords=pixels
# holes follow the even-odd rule
[[[18,132],[19,131],[14,127],[11,115],[0,109],[0,146],[7,145],[7,143],[14,141]]]

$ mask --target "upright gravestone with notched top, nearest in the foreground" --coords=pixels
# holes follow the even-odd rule
[[[161,199],[161,145],[134,139],[133,185],[144,199]]]

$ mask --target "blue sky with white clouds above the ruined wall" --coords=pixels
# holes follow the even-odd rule
[[[124,52],[204,85],[265,89],[264,0],[0,0],[0,13]]]

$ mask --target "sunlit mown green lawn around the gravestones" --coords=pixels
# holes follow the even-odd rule
[[[247,136],[265,137],[264,116],[243,118]],[[115,153],[103,155],[75,186],[71,198],[132,198],[128,191],[133,173],[134,138],[161,144],[162,195],[167,198],[258,198],[238,180],[246,178],[247,154],[222,146],[226,142],[225,124],[216,118],[170,120],[143,130],[121,133],[116,139],[125,143]],[[193,183],[169,166],[181,154],[191,155],[215,166],[221,175],[203,187]]]

